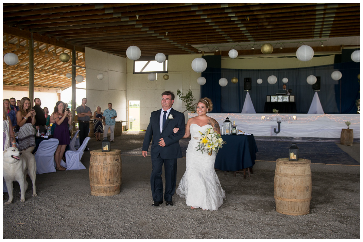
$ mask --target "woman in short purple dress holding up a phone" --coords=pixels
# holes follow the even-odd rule
[[[56,123],[53,138],[59,140],[56,153],[54,154],[54,160],[56,161],[58,171],[65,171],[66,168],[61,166],[61,159],[67,144],[70,144],[68,124],[72,124],[72,113],[69,110],[65,110],[64,103],[58,101],[54,107],[54,112],[50,115],[50,122]]]

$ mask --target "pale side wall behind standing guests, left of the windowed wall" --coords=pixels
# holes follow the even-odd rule
[[[85,48],[86,97],[92,113],[100,106],[102,112],[107,104],[117,112],[116,121],[126,120],[126,58]],[[105,77],[97,78],[99,73]]]

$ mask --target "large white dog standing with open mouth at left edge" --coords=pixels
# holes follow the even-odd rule
[[[10,147],[3,151],[3,158],[3,176],[9,194],[9,200],[5,202],[5,205],[11,204],[13,201],[13,181],[19,182],[20,201],[25,202],[25,191],[28,188],[28,182],[26,182],[27,171],[33,182],[33,197],[36,197],[35,178],[37,165],[34,155],[28,151],[20,152],[19,149]]]

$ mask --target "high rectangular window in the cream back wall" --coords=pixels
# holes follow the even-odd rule
[[[134,74],[168,73],[168,56],[163,63],[155,61],[155,56],[142,56],[134,61]]]

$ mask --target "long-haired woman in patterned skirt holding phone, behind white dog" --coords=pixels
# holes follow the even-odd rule
[[[30,104],[30,99],[24,97],[20,101],[20,109],[16,113],[16,121],[19,129],[19,149],[30,153],[35,147],[34,128],[36,112]]]

